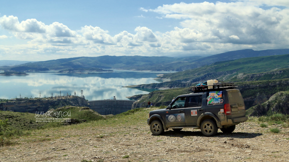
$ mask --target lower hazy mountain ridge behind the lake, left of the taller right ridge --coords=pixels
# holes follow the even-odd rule
[[[182,58],[173,57],[146,57],[146,56],[99,56],[99,57],[76,57],[62,58],[57,60],[39,61],[33,63],[20,64],[5,67],[3,70],[27,71],[47,68],[49,70],[75,70],[82,68],[102,69],[126,69],[126,70],[176,70],[179,65],[187,62],[188,59],[199,59],[201,56],[191,56]],[[175,64],[175,67],[170,64]]]

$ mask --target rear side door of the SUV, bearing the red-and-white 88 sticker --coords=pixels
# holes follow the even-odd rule
[[[189,95],[185,108],[186,126],[196,126],[199,116],[206,112],[206,95]]]

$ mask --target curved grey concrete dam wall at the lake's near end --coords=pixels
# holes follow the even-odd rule
[[[135,101],[131,100],[95,100],[87,101],[90,104],[90,109],[98,112],[101,115],[120,114],[132,109],[132,104]]]

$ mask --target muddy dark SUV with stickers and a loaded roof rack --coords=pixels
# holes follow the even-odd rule
[[[248,119],[242,95],[235,87],[234,83],[190,87],[194,93],[179,95],[167,108],[149,113],[151,133],[160,135],[168,128],[201,129],[205,136],[216,135],[218,128],[232,133],[237,124]]]

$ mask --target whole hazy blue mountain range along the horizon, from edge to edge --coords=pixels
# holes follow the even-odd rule
[[[47,68],[49,70],[74,70],[74,69],[126,69],[126,70],[166,70],[166,71],[182,71],[194,69],[209,65],[217,61],[228,61],[239,58],[283,55],[289,54],[289,49],[270,49],[263,51],[254,51],[252,49],[244,49],[238,51],[230,51],[208,57],[191,56],[191,57],[146,57],[146,56],[99,56],[99,57],[76,57],[63,58],[49,61],[39,61],[25,63],[15,66],[5,67],[3,70],[27,71]],[[180,55],[181,56],[181,55]]]

